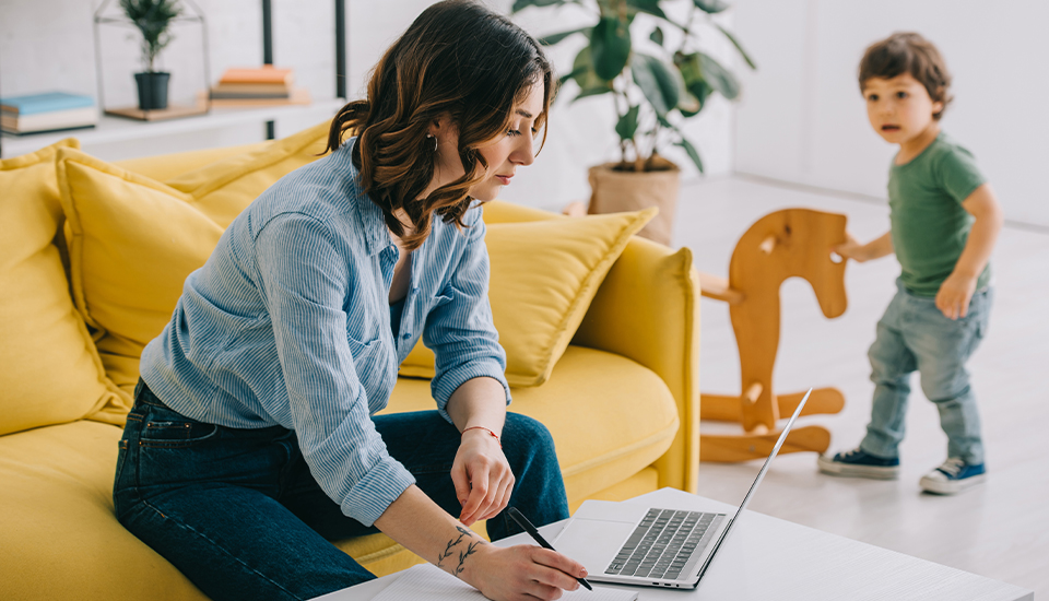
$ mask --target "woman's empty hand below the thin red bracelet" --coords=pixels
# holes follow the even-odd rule
[[[451,466],[451,481],[462,505],[459,521],[470,526],[496,516],[514,492],[514,472],[499,440],[487,431],[468,429]]]

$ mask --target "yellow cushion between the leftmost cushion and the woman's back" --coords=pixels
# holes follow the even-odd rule
[[[79,151],[61,151],[58,177],[73,298],[98,331],[109,378],[130,390],[142,349],[170,320],[222,227],[189,195]]]

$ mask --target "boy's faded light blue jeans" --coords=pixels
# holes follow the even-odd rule
[[[993,291],[977,291],[966,317],[951,320],[940,313],[934,298],[915,296],[898,281],[896,285],[896,296],[877,322],[877,338],[868,352],[874,402],[860,449],[876,457],[898,457],[910,374],[917,370],[922,392],[940,410],[947,457],[983,463],[980,414],[965,362],[987,333]]]

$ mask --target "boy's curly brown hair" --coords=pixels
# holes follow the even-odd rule
[[[910,73],[918,80],[932,102],[943,103],[943,108],[932,115],[933,119],[940,120],[954,99],[950,94],[951,73],[940,50],[921,34],[895,33],[869,46],[860,60],[860,92],[872,78],[891,80],[903,73]]]

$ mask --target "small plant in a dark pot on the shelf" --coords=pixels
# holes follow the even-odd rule
[[[181,14],[178,0],[120,0],[120,8],[142,34],[142,66],[134,74],[139,89],[139,108],[167,108],[167,84],[172,74],[154,70],[156,57],[172,43],[168,27]]]

